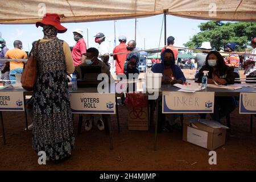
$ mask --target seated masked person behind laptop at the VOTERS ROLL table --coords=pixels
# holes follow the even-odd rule
[[[101,73],[106,73],[110,78],[110,71],[109,67],[98,59],[98,49],[96,48],[89,48],[86,50],[86,59],[85,63],[80,64],[79,66],[75,67],[75,72],[77,73],[77,78],[81,78],[81,68],[84,66],[95,66],[98,65],[101,67]],[[84,114],[85,118],[85,131],[90,131],[92,129],[92,122],[93,118],[97,121],[97,126],[100,131],[104,130],[104,122],[102,121],[101,114]]]

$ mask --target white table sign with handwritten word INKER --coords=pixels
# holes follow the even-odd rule
[[[163,92],[163,113],[213,113],[214,92]]]

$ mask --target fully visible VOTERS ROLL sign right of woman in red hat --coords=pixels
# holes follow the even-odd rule
[[[74,114],[115,114],[115,93],[71,93]]]

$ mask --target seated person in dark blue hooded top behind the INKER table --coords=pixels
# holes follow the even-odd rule
[[[162,63],[155,64],[151,71],[154,73],[162,73],[163,84],[183,84],[186,78],[181,69],[175,65],[174,52],[171,49],[165,49],[161,55]],[[162,107],[162,98],[159,98],[160,107]],[[162,109],[159,108],[162,111]],[[162,115],[162,114],[161,114]],[[165,119],[167,122],[162,123],[162,129],[170,131],[170,129],[181,130],[181,126],[175,123],[175,119],[180,117],[181,114],[166,114]]]

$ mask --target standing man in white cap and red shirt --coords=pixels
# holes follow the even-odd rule
[[[75,67],[85,62],[85,54],[86,54],[86,43],[82,38],[84,36],[84,32],[80,28],[76,28],[73,31],[74,40],[76,41],[76,45],[72,49],[72,57]]]

